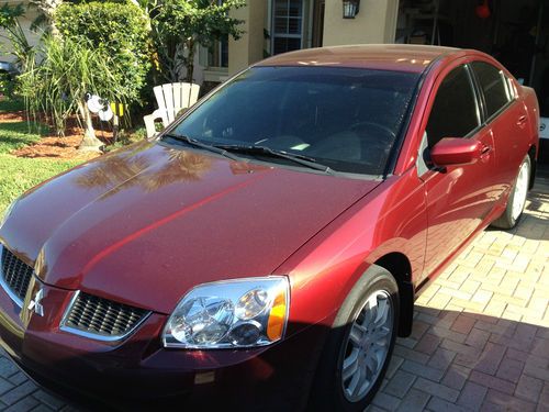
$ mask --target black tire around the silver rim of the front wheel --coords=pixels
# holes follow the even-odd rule
[[[388,302],[393,309],[392,332],[388,336],[389,349],[374,382],[360,399],[350,401],[344,390],[343,361],[348,350],[351,326],[362,309],[367,299],[378,291],[388,297]],[[310,410],[314,411],[363,411],[379,390],[385,375],[399,325],[399,287],[393,276],[382,267],[372,265],[357,281],[341,308],[339,309],[332,330],[326,338],[323,353],[318,360],[315,382],[311,393]],[[366,367],[365,369],[366,370]]]

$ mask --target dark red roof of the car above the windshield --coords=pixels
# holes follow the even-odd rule
[[[277,55],[254,66],[327,66],[422,73],[435,59],[466,54],[461,48],[441,46],[363,44],[306,48]]]

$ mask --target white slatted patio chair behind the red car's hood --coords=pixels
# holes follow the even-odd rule
[[[187,82],[166,83],[154,89],[158,109],[143,118],[147,129],[147,137],[156,134],[155,121],[163,120],[164,127],[168,126],[182,110],[190,108],[199,99],[200,86]]]

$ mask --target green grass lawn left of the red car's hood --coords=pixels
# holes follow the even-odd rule
[[[21,108],[16,102],[0,101],[0,111]],[[43,127],[26,122],[0,123],[0,216],[10,202],[25,190],[55,176],[81,160],[49,160],[21,158],[9,153],[40,138]]]

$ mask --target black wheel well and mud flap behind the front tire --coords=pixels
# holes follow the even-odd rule
[[[392,252],[383,255],[373,264],[386,269],[396,280],[401,303],[399,336],[410,336],[414,319],[414,285],[412,282],[412,264],[410,263],[407,256],[400,252]]]

